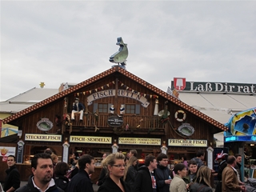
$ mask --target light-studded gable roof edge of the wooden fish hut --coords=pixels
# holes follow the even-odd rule
[[[17,118],[22,117],[23,115],[29,114],[30,112],[32,112],[34,110],[38,110],[38,108],[40,108],[42,106],[48,105],[50,102],[54,102],[55,100],[57,100],[59,98],[64,98],[68,94],[72,94],[72,93],[75,94],[76,91],[81,89],[82,87],[88,86],[91,83],[96,82],[99,79],[109,76],[110,74],[114,74],[116,72],[126,76],[127,78],[130,78],[131,80],[134,80],[135,82],[138,82],[138,84],[141,84],[142,86],[145,86],[147,89],[154,91],[155,94],[158,94],[159,96],[162,96],[163,98],[166,98],[170,102],[174,102],[174,104],[180,106],[182,109],[187,110],[192,114],[195,114],[196,116],[198,116],[199,118],[202,118],[206,122],[209,122],[213,126],[216,126],[221,130],[227,130],[227,127],[224,126],[222,123],[215,121],[213,118],[210,118],[206,114],[202,114],[200,111],[198,111],[198,110],[194,109],[193,107],[187,105],[186,103],[178,100],[177,98],[174,98],[173,96],[171,96],[170,94],[167,94],[163,90],[158,89],[157,87],[151,85],[149,82],[142,80],[142,78],[138,78],[136,75],[131,74],[129,71],[124,70],[120,66],[114,66],[114,67],[110,68],[110,70],[106,70],[106,71],[102,72],[101,74],[97,74],[92,78],[88,78],[84,82],[78,83],[76,86],[72,86],[67,90],[63,90],[62,92],[60,92],[58,94],[54,94],[50,98],[46,98],[42,102],[38,102],[38,103],[34,104],[34,106],[30,106],[30,107],[26,108],[25,110],[18,112],[17,114],[14,114],[8,118],[3,119],[2,122],[8,123],[8,122],[14,121]]]

